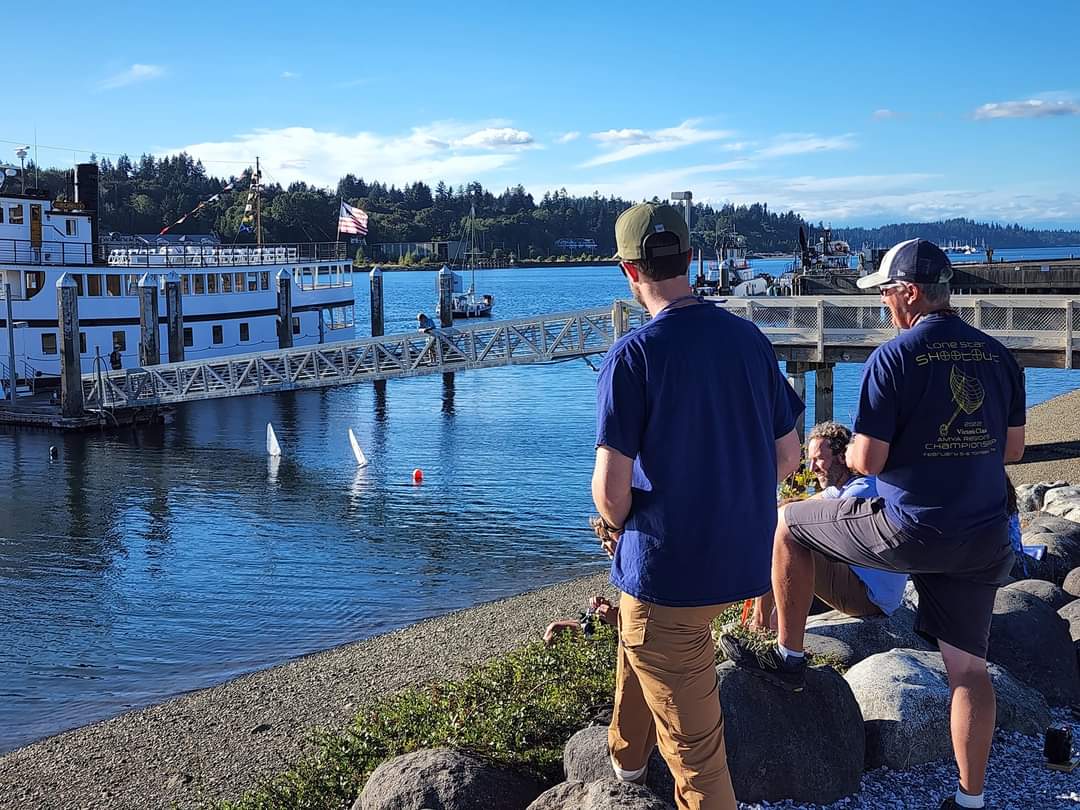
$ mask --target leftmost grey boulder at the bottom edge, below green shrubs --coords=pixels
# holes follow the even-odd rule
[[[376,768],[353,810],[525,810],[535,779],[451,748],[404,754]]]

